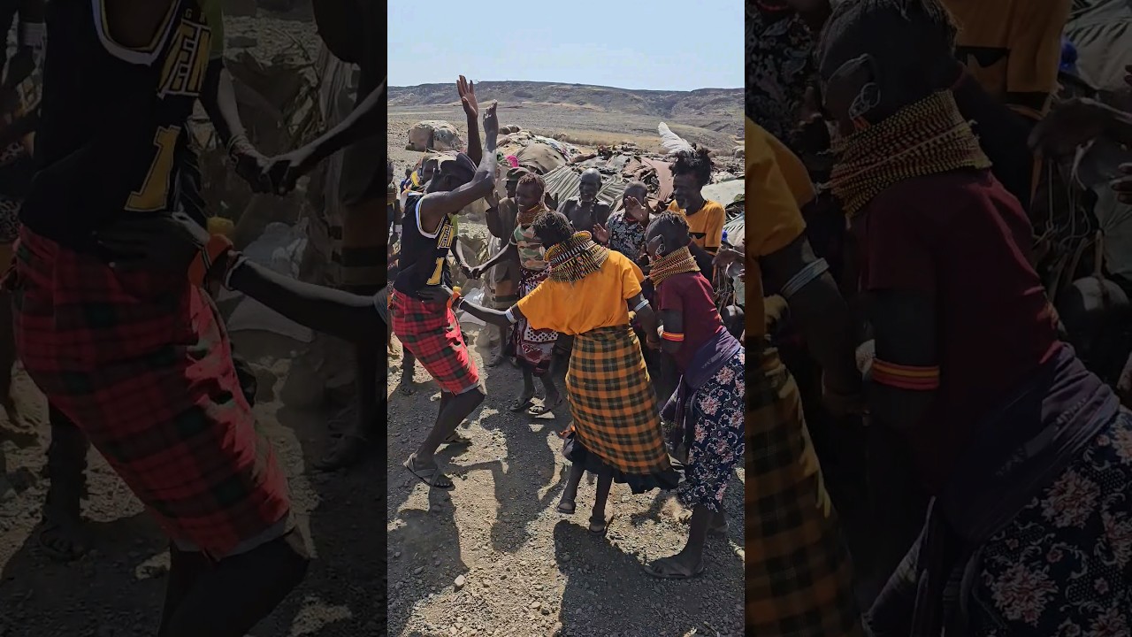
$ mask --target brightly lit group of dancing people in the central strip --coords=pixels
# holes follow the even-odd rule
[[[597,477],[593,533],[612,521],[614,482],[634,493],[677,491],[689,511],[687,545],[646,571],[695,577],[704,570],[707,535],[727,533],[723,494],[745,444],[741,309],[712,283],[718,270],[741,275],[741,258],[723,247],[723,206],[702,195],[710,153],[671,158],[671,202],[650,197],[640,181],[626,186],[619,205],[600,201],[604,177],[597,169],[582,170],[577,195],[559,202],[538,167],[499,156],[496,105],[483,116],[481,144],[474,85],[461,77],[457,92],[466,153],[426,155],[400,187],[389,169],[389,232],[400,249],[389,253],[396,275],[386,303],[405,351],[401,384],[411,385],[419,362],[441,388],[436,424],[404,466],[431,487],[451,489],[436,449],[474,443],[454,438],[489,396],[457,320],[468,313],[494,337],[487,365],[509,362],[522,372],[518,396],[505,397],[511,411],[541,416],[568,407],[561,438],[571,470],[558,512],[575,512],[586,472]],[[480,199],[491,238],[488,256],[472,264],[454,228]],[[449,257],[468,280],[482,281],[481,304],[454,289]],[[724,314],[739,316],[731,330]],[[564,388],[555,382],[560,366]],[[654,382],[658,366],[680,379],[669,391]],[[534,405],[535,379],[541,405]],[[672,425],[667,439],[662,421]],[[679,458],[675,465],[670,453]]]

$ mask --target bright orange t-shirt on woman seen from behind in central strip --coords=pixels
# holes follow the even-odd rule
[[[609,250],[601,269],[581,281],[546,279],[515,307],[535,330],[577,336],[629,323],[626,300],[641,294],[644,273],[627,256]]]

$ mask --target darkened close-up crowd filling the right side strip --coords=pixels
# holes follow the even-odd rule
[[[1096,356],[1129,343],[1047,284],[1097,252],[1096,326],[1132,281],[1103,240],[1050,277],[1091,212],[1046,207],[1132,116],[1066,99],[1069,12],[748,6],[748,634],[1132,630],[1132,359]]]

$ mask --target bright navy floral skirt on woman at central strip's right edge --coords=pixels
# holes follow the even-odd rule
[[[680,504],[689,509],[704,506],[713,512],[723,511],[727,483],[746,450],[745,364],[746,354],[740,349],[696,390],[688,404],[688,419],[696,428],[688,447],[685,481],[677,494]]]

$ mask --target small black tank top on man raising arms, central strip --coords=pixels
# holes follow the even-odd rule
[[[448,253],[456,240],[452,215],[445,216],[436,235],[429,237],[421,231],[417,210],[422,198],[423,195],[409,195],[405,202],[401,223],[401,272],[393,282],[393,289],[414,297],[427,286],[452,286]]]

